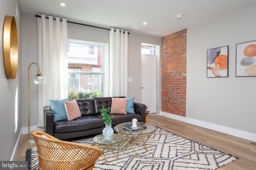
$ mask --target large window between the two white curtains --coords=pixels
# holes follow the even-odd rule
[[[104,96],[105,45],[68,40],[68,98]]]

